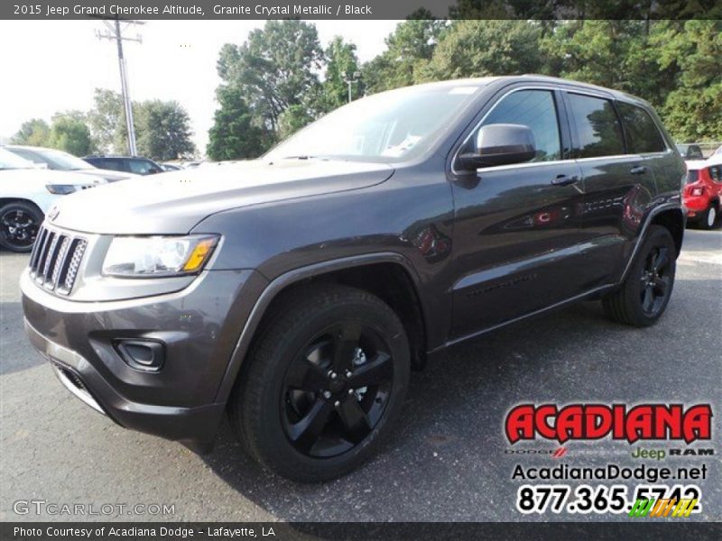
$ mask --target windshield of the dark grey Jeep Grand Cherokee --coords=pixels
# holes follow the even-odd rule
[[[359,99],[292,135],[265,158],[408,160],[430,148],[480,86],[406,87]]]

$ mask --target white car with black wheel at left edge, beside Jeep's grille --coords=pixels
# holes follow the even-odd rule
[[[32,162],[0,148],[0,247],[30,252],[45,214],[58,197],[100,184],[106,180],[37,169]]]

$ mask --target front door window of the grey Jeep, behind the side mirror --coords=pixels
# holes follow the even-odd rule
[[[536,158],[532,161],[561,160],[557,108],[549,90],[519,90],[504,97],[486,116],[487,124],[523,124],[534,134]]]

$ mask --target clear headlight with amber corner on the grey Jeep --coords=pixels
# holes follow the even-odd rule
[[[153,236],[113,239],[103,274],[121,278],[156,278],[198,272],[218,243],[218,236]]]

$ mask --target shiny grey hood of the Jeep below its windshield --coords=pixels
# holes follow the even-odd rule
[[[384,163],[340,160],[208,164],[63,197],[51,223],[97,234],[184,234],[217,212],[366,188],[392,174]]]

